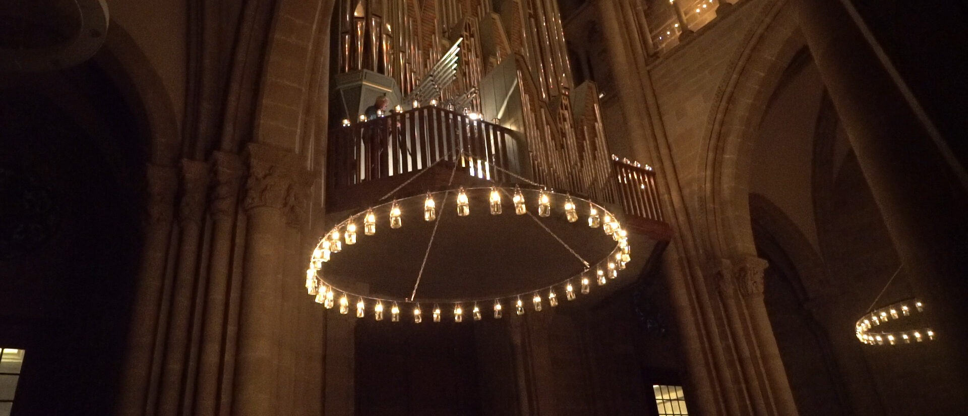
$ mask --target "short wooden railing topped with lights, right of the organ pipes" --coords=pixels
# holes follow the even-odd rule
[[[622,210],[626,216],[654,221],[665,221],[655,190],[655,172],[646,164],[641,166],[628,160],[613,158],[616,185]]]

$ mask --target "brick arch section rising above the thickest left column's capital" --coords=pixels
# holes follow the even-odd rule
[[[335,0],[281,0],[266,45],[253,141],[311,154],[325,132]]]

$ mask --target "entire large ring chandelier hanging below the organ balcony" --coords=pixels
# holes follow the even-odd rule
[[[557,307],[560,296],[571,301],[589,294],[592,285],[616,279],[631,260],[628,235],[616,216],[589,199],[520,176],[532,186],[453,189],[453,173],[447,190],[392,199],[333,226],[314,248],[306,271],[306,289],[315,301],[376,320],[388,312],[393,322],[410,314],[419,323],[427,307],[435,322],[445,315],[456,322],[466,315],[500,318],[505,308],[519,315],[539,312],[545,305]],[[409,234],[399,231],[405,224],[413,228]],[[426,250],[419,253],[423,247],[414,241],[424,237]],[[549,251],[553,241],[564,250]],[[539,265],[541,257],[549,264]],[[361,275],[378,282],[360,288],[366,285]]]

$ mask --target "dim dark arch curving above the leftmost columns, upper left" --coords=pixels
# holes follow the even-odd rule
[[[138,129],[148,143],[147,160],[173,165],[181,151],[181,128],[162,77],[135,40],[117,24],[107,31],[105,45],[94,57],[136,114]]]

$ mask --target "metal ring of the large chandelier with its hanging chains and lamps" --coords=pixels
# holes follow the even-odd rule
[[[481,195],[479,193],[482,191],[489,192],[487,197],[480,197]],[[529,198],[525,194],[531,196],[536,194],[537,196]],[[511,199],[513,203],[513,209],[508,210],[511,212],[503,212],[505,203],[502,203],[502,201],[505,200],[505,197]],[[511,215],[515,217],[531,217],[534,223],[544,228],[562,247],[576,257],[577,262],[582,263],[582,271],[569,275],[565,279],[557,279],[550,284],[529,287],[527,290],[488,293],[486,295],[460,298],[416,297],[417,285],[420,282],[420,275],[423,273],[422,265],[420,267],[420,273],[416,276],[412,295],[409,297],[387,296],[382,294],[382,292],[378,295],[358,293],[356,290],[348,289],[345,285],[331,282],[323,276],[323,263],[328,262],[331,256],[336,255],[336,253],[340,253],[348,249],[349,246],[357,244],[357,241],[361,238],[361,233],[363,236],[374,235],[377,233],[379,227],[386,226],[387,224],[390,228],[402,227],[403,213],[401,206],[409,207],[417,205],[414,201],[419,201],[421,198],[424,199],[423,220],[425,222],[437,222],[434,226],[434,233],[431,234],[430,241],[428,242],[424,263],[427,261],[426,254],[429,254],[432,249],[434,235],[436,235],[437,227],[443,219],[444,210],[453,209],[457,213],[457,218],[467,217],[471,210],[471,200],[473,199],[476,203],[477,200],[483,199],[487,201],[488,205],[483,208],[488,210],[491,216]],[[539,220],[539,218],[546,219],[552,217],[553,200],[559,203],[557,204],[557,209],[554,211],[563,211],[564,219],[568,226],[577,226],[580,217],[585,217],[587,220],[587,222],[583,222],[585,225],[590,228],[600,228],[605,231],[606,235],[610,235],[616,241],[615,246],[610,247],[609,250],[602,250],[602,252],[607,251],[608,254],[591,263],[579,253],[576,253],[552,229]],[[561,203],[562,201],[563,203]],[[481,208],[477,207],[473,209],[478,210]],[[532,211],[534,208],[536,208],[536,211]],[[537,215],[534,216],[532,212]],[[408,221],[412,221],[412,219]],[[452,221],[452,218],[448,218],[448,221]],[[361,223],[362,227],[360,226]],[[378,225],[378,223],[380,224]],[[558,226],[562,226],[563,224],[565,223],[560,223]],[[407,305],[412,307],[414,320],[420,321],[420,315],[422,314],[420,304],[435,304],[433,310],[434,320],[439,321],[439,314],[441,313],[439,304],[449,304],[454,306],[454,319],[457,321],[463,320],[463,306],[472,305],[472,317],[476,320],[480,319],[481,316],[480,304],[486,302],[493,302],[494,315],[500,317],[500,310],[503,308],[501,306],[502,303],[514,305],[518,314],[522,314],[524,313],[524,301],[522,298],[528,299],[530,296],[533,310],[541,311],[541,305],[544,300],[547,300],[548,304],[552,307],[558,306],[558,293],[563,293],[567,300],[575,299],[576,293],[578,292],[588,294],[590,293],[590,286],[592,284],[605,284],[618,277],[618,271],[624,269],[625,263],[631,259],[629,252],[627,233],[622,229],[615,215],[602,205],[592,202],[589,199],[540,187],[535,187],[534,189],[499,186],[461,187],[456,190],[448,189],[393,199],[357,212],[342,222],[335,224],[314,248],[310,258],[310,267],[307,269],[306,287],[309,294],[315,296],[318,303],[327,309],[339,306],[340,312],[344,314],[349,312],[349,303],[356,301],[356,314],[358,317],[363,317],[367,312],[370,312],[380,320],[382,319],[384,304],[386,304],[385,308],[390,310],[391,320],[397,321],[400,319],[400,306]]]

